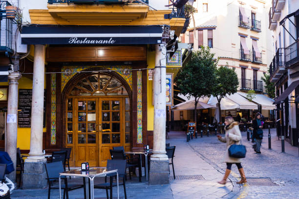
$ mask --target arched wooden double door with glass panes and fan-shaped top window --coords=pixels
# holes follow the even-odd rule
[[[106,166],[109,149],[129,147],[129,98],[119,80],[90,74],[74,86],[66,103],[66,147],[73,148],[75,166]]]

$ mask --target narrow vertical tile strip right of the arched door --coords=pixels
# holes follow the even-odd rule
[[[142,71],[137,71],[137,143],[142,143]]]

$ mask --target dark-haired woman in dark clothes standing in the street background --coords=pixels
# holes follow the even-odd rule
[[[261,118],[261,114],[260,113],[256,113],[255,119],[252,121],[252,125],[253,125],[253,133],[254,133],[254,139],[256,139],[256,147],[255,147],[255,151],[256,153],[260,154],[260,145],[261,145],[261,141],[263,139],[263,125],[262,125],[262,121],[260,120]]]

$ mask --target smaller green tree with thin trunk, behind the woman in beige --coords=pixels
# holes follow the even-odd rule
[[[216,70],[216,81],[212,89],[212,95],[218,101],[219,116],[221,118],[220,102],[226,95],[231,95],[237,92],[239,86],[238,76],[235,73],[235,68],[230,69],[228,63],[226,66],[220,66]]]

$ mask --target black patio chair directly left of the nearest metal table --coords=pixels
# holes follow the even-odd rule
[[[59,189],[59,184],[53,185],[55,180],[59,179],[59,173],[64,172],[64,166],[62,161],[55,161],[51,163],[46,163],[44,164],[46,173],[47,173],[47,181],[49,184],[49,190],[48,190],[48,199],[50,199],[50,193],[51,189]],[[68,192],[75,190],[75,189],[80,189],[83,188],[84,185],[82,184],[67,184],[67,178],[65,176],[61,177],[61,179],[64,180],[64,184],[61,184],[61,189],[64,190],[64,199],[66,196],[66,199],[68,199]],[[84,189],[84,197],[86,198],[86,191]]]

